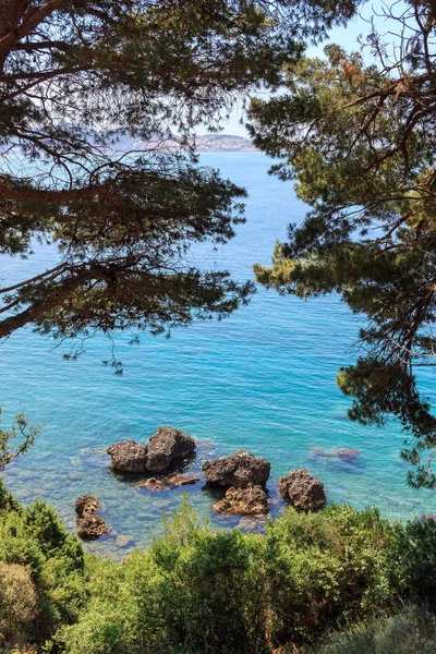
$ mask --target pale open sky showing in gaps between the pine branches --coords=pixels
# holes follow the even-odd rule
[[[387,29],[385,20],[380,17],[384,4],[386,4],[386,2],[383,2],[382,0],[366,2],[360,12],[360,15],[356,15],[354,19],[352,19],[348,23],[347,27],[335,27],[331,29],[329,38],[319,46],[307,47],[306,55],[310,57],[322,57],[325,46],[329,43],[339,44],[346,50],[356,49],[356,47],[359,47],[359,36],[365,36],[370,32],[368,21],[371,21],[373,16],[375,17],[375,22],[383,33]],[[391,4],[391,2],[389,2],[389,4]],[[400,2],[397,4],[400,5]],[[265,94],[265,97],[268,98],[267,93]],[[244,125],[241,124],[241,119],[244,119],[244,111],[242,107],[234,107],[225,129],[222,130],[222,133],[233,134],[237,136],[247,136]],[[201,135],[205,134],[207,130],[198,130],[198,134]]]

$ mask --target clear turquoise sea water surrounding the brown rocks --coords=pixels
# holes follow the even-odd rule
[[[217,252],[197,251],[195,259],[216,262],[246,279],[253,263],[269,263],[275,240],[284,239],[287,225],[300,220],[305,207],[291,185],[266,174],[270,161],[262,154],[202,159],[244,185],[250,197],[238,237]],[[29,276],[55,256],[37,249],[27,262],[0,259],[0,277]],[[124,438],[145,440],[164,424],[201,439],[194,469],[205,458],[241,447],[266,457],[275,512],[281,509],[277,479],[299,467],[322,479],[330,501],[376,504],[396,519],[436,512],[435,493],[405,484],[398,425],[366,428],[347,419],[349,402],[335,376],[352,356],[359,325],[336,296],[302,302],[259,289],[249,306],[221,323],[197,323],[169,340],[145,335],[134,347],[119,339],[122,377],[100,363],[108,356],[102,337],[89,340],[77,362],[65,362],[66,346],[53,349],[29,329],[15,334],[0,348],[4,419],[23,410],[45,426],[34,448],[5,471],[7,484],[25,502],[46,498],[71,529],[75,498],[94,494],[114,532],[145,546],[161,532],[162,513],[178,506],[182,491],[140,491],[134,481],[108,471],[105,449]],[[433,377],[423,376],[422,386],[432,395]],[[354,463],[317,458],[314,446],[358,448],[361,457]],[[239,522],[211,513],[215,498],[202,484],[187,493],[214,524]],[[90,548],[117,556],[113,537]]]

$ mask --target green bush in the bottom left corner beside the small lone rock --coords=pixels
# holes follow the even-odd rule
[[[0,561],[3,570],[14,570],[16,578],[19,573],[22,579],[28,577],[24,585],[28,594],[31,588],[36,594],[32,615],[15,620],[13,634],[3,628],[8,642],[12,639],[43,644],[60,626],[78,618],[87,597],[81,543],[68,533],[53,509],[39,501],[21,507],[8,495],[1,480]]]

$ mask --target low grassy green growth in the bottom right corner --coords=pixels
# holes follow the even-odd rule
[[[433,654],[435,651],[435,615],[411,605],[393,617],[336,633],[326,645],[311,650],[311,654]]]

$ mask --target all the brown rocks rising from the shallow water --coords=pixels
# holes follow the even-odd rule
[[[124,440],[109,447],[107,452],[111,457],[112,470],[143,475],[145,479],[140,486],[148,491],[168,491],[201,481],[192,475],[167,474],[194,449],[195,441],[191,436],[173,427],[160,426],[145,445]],[[356,450],[340,450],[336,456],[352,458],[356,456]],[[269,510],[265,486],[269,479],[270,463],[266,459],[240,449],[229,457],[205,461],[202,471],[207,484],[226,488],[225,497],[214,505],[218,513],[261,516]],[[292,470],[281,477],[279,494],[299,511],[318,511],[327,502],[322,482],[305,469]],[[86,524],[89,523],[89,528],[98,531],[99,517],[95,516],[96,510],[87,509],[81,520],[86,519]]]

